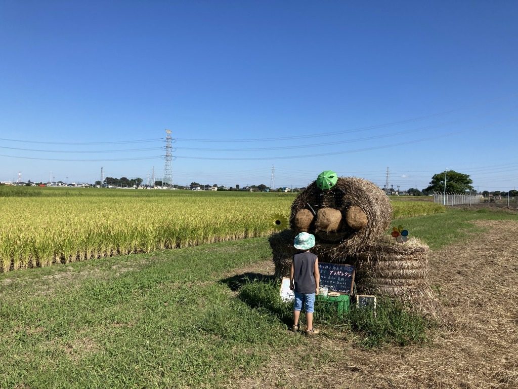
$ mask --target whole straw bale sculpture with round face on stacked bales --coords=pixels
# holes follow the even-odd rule
[[[319,178],[324,173],[334,172],[323,172]],[[413,311],[434,314],[427,281],[428,246],[416,238],[398,243],[386,235],[392,206],[385,193],[361,178],[336,177],[324,184],[319,178],[293,201],[291,229],[269,238],[276,276],[289,274],[297,253],[295,235],[306,231],[315,235],[311,252],[319,261],[356,267],[358,293],[397,298]]]

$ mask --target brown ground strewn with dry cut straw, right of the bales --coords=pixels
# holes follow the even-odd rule
[[[431,346],[362,350],[323,334],[235,387],[518,388],[518,223],[480,223],[491,233],[430,255],[443,309]]]

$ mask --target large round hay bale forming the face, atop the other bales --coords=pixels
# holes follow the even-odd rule
[[[335,230],[319,224],[319,212],[326,208],[340,211]],[[344,257],[364,251],[383,235],[392,220],[392,206],[385,193],[375,184],[354,177],[338,178],[329,190],[321,190],[313,182],[301,192],[292,203],[290,216],[290,225],[297,232],[306,227],[299,225],[297,216],[303,210],[305,215],[307,211],[315,214],[307,229],[322,244],[315,254],[325,254],[326,260],[333,262],[343,263]]]

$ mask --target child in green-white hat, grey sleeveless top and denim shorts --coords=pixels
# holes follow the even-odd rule
[[[292,331],[297,332],[299,329],[298,318],[304,302],[308,322],[306,334],[308,335],[320,332],[313,327],[315,295],[319,294],[320,284],[319,259],[309,252],[314,245],[315,237],[312,234],[301,232],[295,237],[295,248],[303,250],[303,252],[293,256],[290,270],[290,289],[295,292]]]

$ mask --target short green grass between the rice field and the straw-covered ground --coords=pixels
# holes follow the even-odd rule
[[[490,232],[472,227],[475,219],[518,217],[448,210],[397,223],[438,248]],[[270,257],[267,241],[254,238],[1,274],[0,387],[222,387],[281,352],[296,355],[310,340],[288,330],[278,285],[244,282],[236,294],[226,282]],[[399,312],[339,322],[325,313],[315,314],[323,336],[358,346],[428,340],[424,323],[408,325]]]

